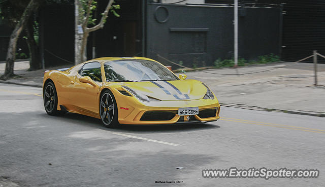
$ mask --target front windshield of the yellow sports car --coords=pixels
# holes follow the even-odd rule
[[[150,60],[125,59],[104,63],[106,81],[179,80],[163,65]]]

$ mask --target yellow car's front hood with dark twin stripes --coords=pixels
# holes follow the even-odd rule
[[[198,80],[123,82],[136,92],[165,101],[202,99],[207,88]]]

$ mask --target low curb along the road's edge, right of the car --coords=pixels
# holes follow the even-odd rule
[[[310,115],[310,116],[317,116],[317,117],[325,117],[325,113],[319,113],[319,112],[309,112],[309,111],[299,111],[299,110],[281,110],[281,109],[270,109],[270,108],[263,108],[263,107],[257,107],[257,106],[248,106],[243,104],[222,104],[220,103],[220,106],[223,107],[233,107],[233,108],[242,108],[242,109],[248,109],[248,110],[259,110],[259,111],[273,111],[273,112],[283,112],[287,114],[298,114],[298,115]]]

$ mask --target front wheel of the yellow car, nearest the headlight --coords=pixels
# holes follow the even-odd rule
[[[119,126],[117,104],[110,90],[105,90],[101,93],[100,115],[105,127],[116,128]]]

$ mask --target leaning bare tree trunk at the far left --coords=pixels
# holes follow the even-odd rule
[[[16,24],[15,29],[10,36],[7,58],[6,58],[5,74],[0,77],[1,79],[6,80],[14,76],[14,61],[15,61],[17,40],[32,11],[38,8],[38,6],[39,6],[39,0],[30,0],[19,22]]]

